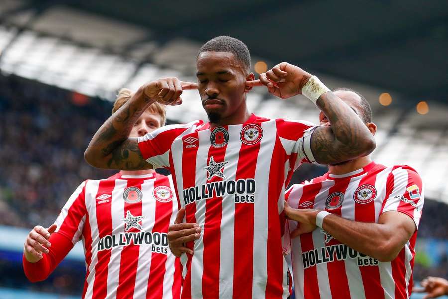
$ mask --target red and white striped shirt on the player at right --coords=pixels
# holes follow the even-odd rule
[[[387,211],[402,212],[419,225],[422,180],[408,166],[371,162],[344,175],[323,176],[291,186],[286,199],[293,208],[325,209],[345,219],[378,222]],[[297,222],[288,221],[289,230]],[[380,262],[334,239],[321,228],[292,239],[296,298],[409,298],[417,230],[391,262]]]

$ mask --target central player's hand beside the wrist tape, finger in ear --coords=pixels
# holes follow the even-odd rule
[[[265,85],[269,93],[287,99],[302,93],[302,87],[311,78],[311,74],[298,66],[282,62],[266,73],[259,76],[259,80],[247,81],[249,86]]]

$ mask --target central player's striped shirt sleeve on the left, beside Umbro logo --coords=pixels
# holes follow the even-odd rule
[[[173,141],[186,130],[198,125],[201,121],[185,125],[166,125],[145,136],[138,137],[138,147],[143,158],[156,168],[169,168],[169,155]]]

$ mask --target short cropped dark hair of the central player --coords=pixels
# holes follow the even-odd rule
[[[243,64],[246,72],[250,72],[250,52],[246,44],[239,39],[225,35],[212,38],[199,49],[196,59],[202,52],[232,53]]]

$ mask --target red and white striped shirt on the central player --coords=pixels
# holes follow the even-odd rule
[[[284,191],[312,160],[306,122],[255,115],[211,128],[195,121],[139,138],[143,157],[171,170],[186,221],[201,237],[183,254],[182,298],[286,298],[282,254]],[[284,218],[283,218],[284,219]]]

